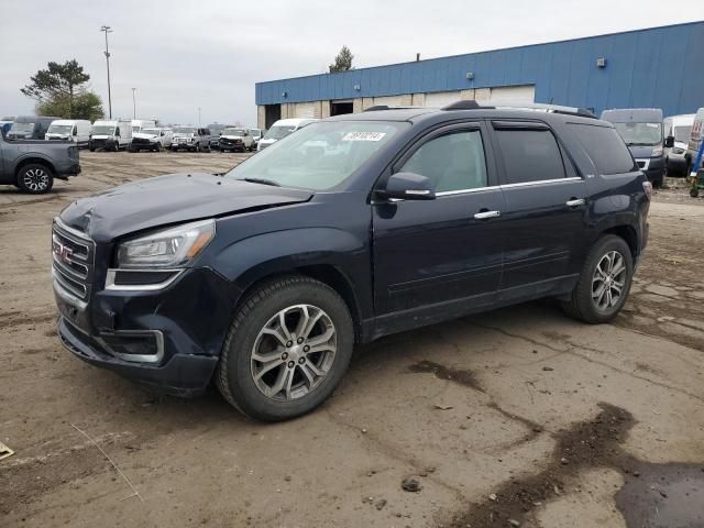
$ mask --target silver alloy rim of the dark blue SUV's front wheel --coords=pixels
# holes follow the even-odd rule
[[[266,397],[290,402],[315,391],[336,360],[330,316],[312,305],[284,308],[260,330],[251,355],[254,385]]]

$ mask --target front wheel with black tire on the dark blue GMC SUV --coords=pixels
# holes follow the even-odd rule
[[[315,323],[307,332],[308,340],[300,337],[299,341],[295,330],[302,321],[302,306]],[[292,328],[289,337],[282,331],[278,316],[283,311],[285,323]],[[316,342],[324,340],[329,332],[332,336],[327,344]],[[322,351],[310,352],[308,342]],[[240,306],[222,346],[216,384],[241,413],[264,421],[288,420],[311,411],[330,397],[348,369],[353,345],[352,318],[332,288],[310,277],[279,277],[256,288]],[[255,346],[258,353],[265,350],[267,356],[274,351],[274,359],[256,361]],[[258,382],[255,373],[261,375]],[[264,391],[276,392],[266,395]]]

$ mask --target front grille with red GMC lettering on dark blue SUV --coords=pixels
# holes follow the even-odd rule
[[[54,220],[52,256],[54,278],[69,294],[79,299],[90,297],[96,244],[76,230]]]

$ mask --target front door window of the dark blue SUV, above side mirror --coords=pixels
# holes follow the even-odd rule
[[[479,130],[453,132],[425,143],[402,170],[430,178],[436,193],[486,187],[486,161]]]

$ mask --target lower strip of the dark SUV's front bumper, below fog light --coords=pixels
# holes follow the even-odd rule
[[[175,354],[161,366],[122,361],[63,317],[58,319],[58,336],[64,348],[86,363],[108,369],[133,382],[174,396],[193,397],[202,394],[218,363],[217,358],[187,354]]]

